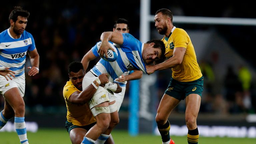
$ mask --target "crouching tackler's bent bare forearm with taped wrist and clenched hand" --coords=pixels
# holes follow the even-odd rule
[[[69,97],[69,101],[74,104],[85,104],[87,103],[96,92],[97,88],[101,84],[108,83],[108,75],[101,74],[96,80],[94,80],[88,87],[86,87],[81,93],[79,91],[75,91]]]

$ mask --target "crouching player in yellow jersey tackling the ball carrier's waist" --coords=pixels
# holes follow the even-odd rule
[[[121,92],[122,88],[117,84],[108,83],[107,74],[101,74],[94,80],[94,83],[90,83],[90,85],[82,91],[82,80],[85,75],[85,70],[80,62],[70,63],[68,73],[70,80],[63,88],[63,97],[67,106],[67,121],[65,127],[67,128],[72,144],[81,144],[86,133],[96,124],[88,101],[97,91],[97,88],[102,88],[103,86],[111,90],[115,89],[115,92]],[[103,136],[101,135],[101,137]],[[101,137],[97,139],[96,142],[103,142]],[[107,138],[105,137],[105,139]],[[114,143],[111,135],[106,143]]]

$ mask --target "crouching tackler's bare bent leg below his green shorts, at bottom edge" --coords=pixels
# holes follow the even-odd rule
[[[83,128],[72,129],[69,132],[69,137],[72,144],[81,144],[86,133],[87,133],[87,130]]]

